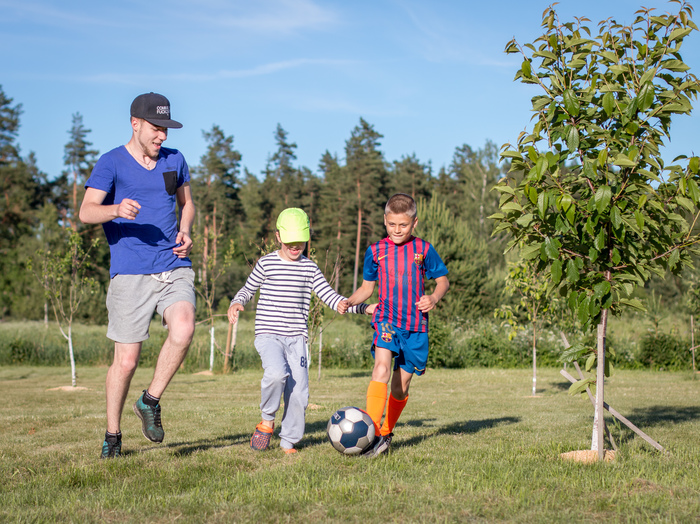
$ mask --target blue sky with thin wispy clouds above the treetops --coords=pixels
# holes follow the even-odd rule
[[[0,0],[0,86],[21,104],[18,144],[53,178],[75,114],[100,153],[131,135],[129,107],[149,91],[169,98],[166,146],[196,166],[217,125],[260,176],[277,125],[297,145],[297,166],[318,172],[344,148],[360,118],[383,135],[389,162],[415,155],[433,173],[455,149],[515,143],[531,129],[533,86],[514,81],[513,38],[542,34],[539,0]],[[691,2],[692,3],[692,2]],[[699,3],[700,4],[700,3]],[[658,0],[561,0],[563,21],[634,20]],[[700,23],[700,22],[699,22]],[[700,32],[683,45],[700,76]],[[674,120],[668,163],[700,153],[700,108]]]

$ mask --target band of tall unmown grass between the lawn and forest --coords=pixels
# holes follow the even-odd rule
[[[319,341],[322,340],[322,367],[369,368],[372,357],[369,348],[372,328],[368,318],[327,315],[322,337],[310,341],[311,364],[318,364]],[[668,317],[657,324],[645,317],[628,315],[611,319],[607,345],[615,356],[613,364],[624,369],[691,370],[692,357],[688,326],[680,316]],[[260,359],[253,345],[253,315],[240,321],[236,347],[232,356],[233,369],[258,369]],[[225,317],[215,322],[216,347],[214,371],[224,367],[224,351],[229,325]],[[109,365],[113,343],[105,337],[106,327],[76,325],[73,341],[78,366]],[[557,367],[563,344],[558,330],[540,329],[537,341],[538,367]],[[155,365],[167,331],[156,320],[150,338],[143,344],[141,365]],[[569,334],[571,335],[571,334]],[[507,330],[488,319],[449,322],[434,321],[430,328],[432,368],[524,368],[532,362],[532,331],[526,329],[509,340]],[[573,341],[573,340],[572,340]],[[588,335],[590,347],[595,346]],[[209,325],[200,324],[183,364],[186,371],[209,369]],[[0,365],[67,365],[66,341],[55,324],[39,322],[0,323]]]

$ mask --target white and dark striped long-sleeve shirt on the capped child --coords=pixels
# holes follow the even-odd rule
[[[311,292],[324,304],[337,311],[345,297],[328,284],[318,266],[302,256],[296,262],[280,258],[277,251],[261,257],[245,285],[231,303],[245,306],[260,289],[255,311],[255,335],[273,334],[285,337],[302,335],[308,338],[307,322]],[[366,304],[353,306],[349,313],[364,313]]]

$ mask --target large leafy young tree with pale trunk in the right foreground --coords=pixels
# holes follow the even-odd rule
[[[690,113],[700,87],[680,53],[697,29],[692,9],[674,3],[677,14],[640,9],[629,26],[605,20],[595,37],[589,20],[562,23],[550,6],[534,44],[506,46],[524,58],[516,79],[540,94],[533,129],[504,146],[511,170],[525,177],[496,186],[494,232],[509,232],[509,246],[520,247],[584,328],[597,327],[596,378],[583,382],[596,385],[600,419],[608,315],[641,309],[635,287],[690,266],[700,240],[689,221],[700,202],[699,159],[667,166],[661,154],[672,118]]]

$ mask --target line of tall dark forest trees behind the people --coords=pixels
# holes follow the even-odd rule
[[[84,184],[101,154],[89,140],[80,113],[72,117],[64,146],[64,169],[43,173],[33,152],[21,154],[18,130],[22,105],[0,86],[0,319],[41,319],[49,315],[44,290],[27,261],[37,253],[65,249],[78,234],[90,251],[88,275],[97,286],[79,320],[105,323],[109,248],[101,226],[84,225],[78,210]],[[419,203],[417,234],[433,242],[450,269],[452,291],[441,314],[451,318],[491,315],[501,297],[507,238],[493,236],[488,217],[498,211],[491,188],[508,167],[490,141],[480,149],[455,148],[437,173],[415,154],[387,160],[383,135],[360,118],[344,154],[326,151],[312,169],[298,165],[297,145],[277,125],[276,149],[261,173],[251,173],[219,125],[203,131],[207,147],[193,162],[191,185],[197,209],[191,255],[197,274],[198,318],[222,313],[261,253],[274,248],[275,220],[286,207],[310,217],[308,255],[327,279],[349,295],[362,280],[364,251],[385,234],[384,204],[396,192]],[[182,148],[185,157],[186,147]]]

